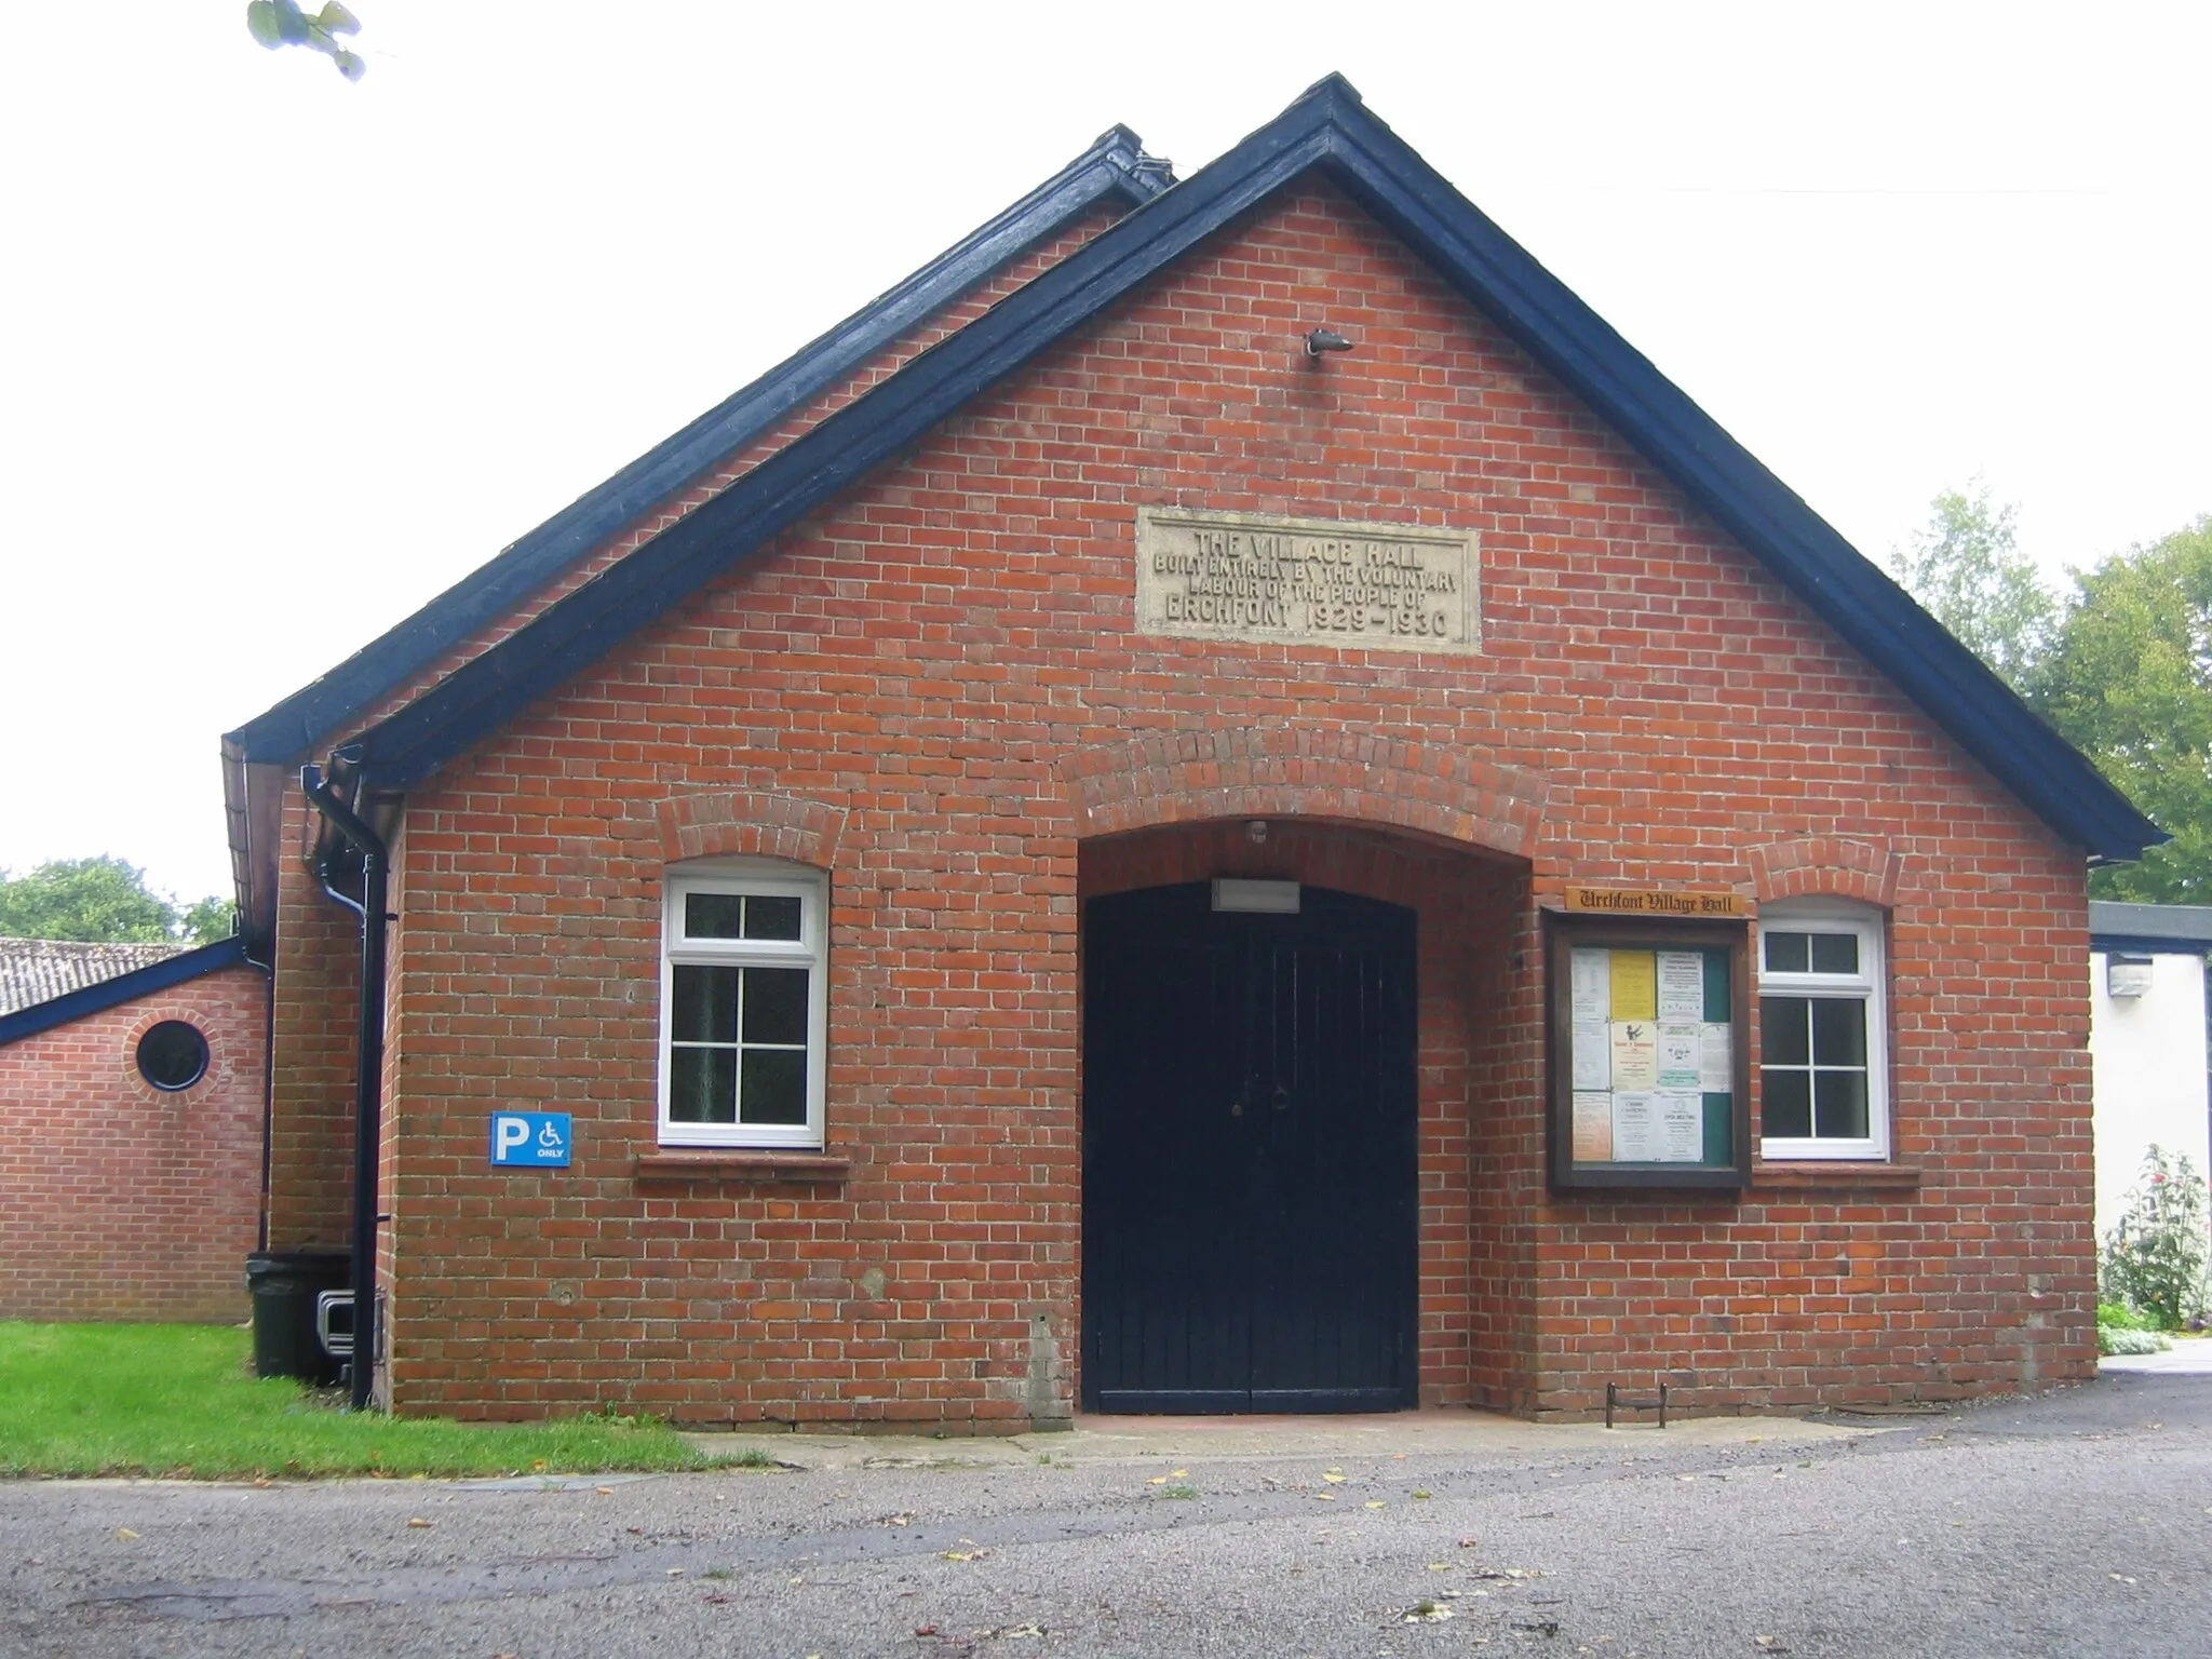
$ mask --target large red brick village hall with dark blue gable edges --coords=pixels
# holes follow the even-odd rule
[[[226,754],[270,1245],[372,1197],[400,1411],[2095,1363],[2159,832],[1340,80],[1108,133]]]

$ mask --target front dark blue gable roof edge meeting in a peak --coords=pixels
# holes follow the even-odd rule
[[[361,739],[369,785],[420,783],[1307,170],[1427,259],[2057,834],[2099,858],[2168,838],[1338,75],[378,721]]]

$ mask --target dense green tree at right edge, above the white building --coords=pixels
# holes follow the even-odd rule
[[[2212,902],[2212,515],[2075,573],[2035,684],[2044,717],[2172,834],[2097,898]]]

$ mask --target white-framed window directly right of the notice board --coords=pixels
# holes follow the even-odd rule
[[[1889,1157],[1889,980],[1876,911],[1759,911],[1759,1152]]]

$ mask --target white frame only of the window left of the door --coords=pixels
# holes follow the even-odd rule
[[[690,938],[684,900],[690,894],[737,894],[799,900],[796,940]],[[668,1117],[675,1077],[677,967],[803,967],[807,975],[807,1121],[679,1124]],[[776,858],[690,858],[668,865],[661,900],[661,1146],[750,1146],[821,1150],[830,1071],[830,878]]]

